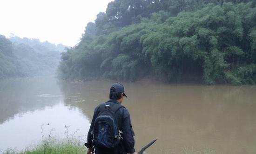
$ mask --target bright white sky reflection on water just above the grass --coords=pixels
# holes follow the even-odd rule
[[[63,103],[16,114],[0,125],[0,149],[21,150],[31,147],[50,133],[51,137],[56,138],[66,138],[68,133],[84,141],[84,132],[89,129],[88,126],[89,120],[81,114],[80,109],[68,108]]]

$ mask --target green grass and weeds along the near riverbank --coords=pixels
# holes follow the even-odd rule
[[[6,150],[0,149],[0,154],[86,154],[87,148],[84,146],[85,141],[82,139],[82,136],[75,136],[77,131],[70,134],[68,126],[65,126],[65,138],[53,137],[52,131],[54,129],[50,130],[47,137],[45,137],[46,134],[43,126],[41,126],[42,139],[40,142],[20,151],[12,148]],[[168,152],[160,151],[161,154],[168,154]],[[195,145],[193,145],[192,147],[181,147],[181,152],[178,154],[215,154],[215,150],[204,149],[198,151]]]

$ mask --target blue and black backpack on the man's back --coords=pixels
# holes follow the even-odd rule
[[[100,105],[100,113],[94,121],[93,145],[97,148],[115,148],[120,144],[121,134],[118,129],[116,111],[124,108],[121,104],[108,105],[108,102]]]

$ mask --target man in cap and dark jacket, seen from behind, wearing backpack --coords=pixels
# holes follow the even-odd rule
[[[121,83],[114,83],[110,88],[109,101],[95,108],[88,132],[88,142],[85,143],[85,146],[88,148],[87,154],[93,154],[94,149],[95,154],[137,154],[134,148],[134,131],[130,115],[128,110],[121,105],[124,96],[127,97],[124,93],[123,85]],[[111,116],[111,113],[113,116]],[[104,119],[106,117],[108,119]],[[115,119],[114,123],[111,123],[111,120],[109,120],[112,118]],[[109,136],[115,128],[112,126],[115,125],[115,122],[117,125],[116,128],[119,129],[118,134]],[[111,132],[106,132],[110,130]],[[108,139],[111,136],[115,136],[115,138]]]

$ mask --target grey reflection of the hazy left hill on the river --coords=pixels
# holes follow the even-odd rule
[[[63,100],[52,77],[18,78],[0,81],[0,123],[15,114],[44,109]]]

